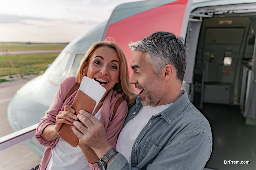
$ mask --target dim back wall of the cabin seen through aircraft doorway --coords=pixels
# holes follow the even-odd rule
[[[204,72],[204,103],[242,104],[243,63],[252,59],[253,35],[246,16],[203,19],[194,72]]]

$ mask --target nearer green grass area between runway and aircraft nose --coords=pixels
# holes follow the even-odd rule
[[[57,56],[58,53],[0,56],[0,76],[38,74]]]

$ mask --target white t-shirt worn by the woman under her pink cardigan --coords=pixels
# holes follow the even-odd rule
[[[100,120],[100,111],[101,108],[95,115],[98,120]],[[52,157],[46,167],[46,170],[52,169],[90,170],[90,167],[79,146],[73,147],[60,138],[52,149]]]

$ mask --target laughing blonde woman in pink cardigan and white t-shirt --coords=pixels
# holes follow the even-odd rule
[[[94,115],[105,126],[108,140],[116,146],[117,135],[127,115],[127,104],[134,102],[134,91],[129,83],[127,62],[121,48],[113,41],[102,41],[87,51],[76,77],[67,77],[60,83],[52,105],[38,124],[35,137],[47,147],[39,169],[97,169],[96,164],[87,162],[83,154],[86,147],[82,142],[79,141],[79,147],[73,148],[57,135],[63,123],[72,125],[78,119],[75,110],[70,107],[77,90],[65,98],[76,82],[81,83],[83,76],[98,81],[106,89],[102,102],[96,107],[99,110]],[[114,105],[121,96],[125,101],[120,103],[110,121]]]

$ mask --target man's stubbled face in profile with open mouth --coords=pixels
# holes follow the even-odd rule
[[[140,90],[139,96],[143,106],[154,106],[163,95],[162,80],[154,73],[153,67],[145,60],[144,56],[143,52],[134,53],[131,65],[133,74],[130,83]]]

